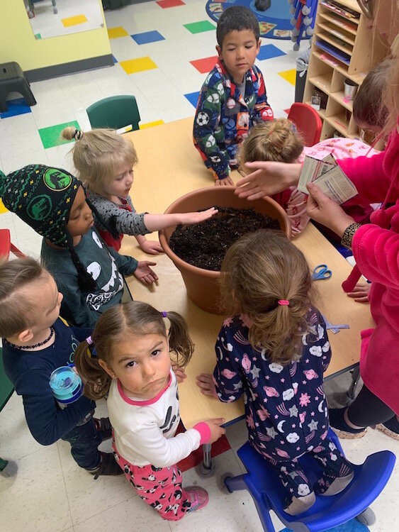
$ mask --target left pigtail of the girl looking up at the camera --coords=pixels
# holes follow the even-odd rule
[[[89,399],[102,399],[111,386],[111,377],[99,365],[95,350],[84,340],[74,352],[74,364],[84,382],[84,394]]]

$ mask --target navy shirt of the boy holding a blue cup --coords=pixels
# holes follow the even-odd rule
[[[57,367],[73,362],[74,350],[91,334],[91,329],[69,327],[60,318],[53,327],[55,342],[40,351],[25,351],[3,342],[4,370],[16,393],[22,395],[33,438],[42,445],[55,443],[72,431],[96,406],[83,395],[65,409],[60,409],[55,401],[50,375]]]

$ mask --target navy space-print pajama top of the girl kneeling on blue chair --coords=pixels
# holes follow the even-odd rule
[[[293,460],[327,436],[323,372],[330,363],[330,343],[318,311],[309,312],[308,323],[302,353],[285,366],[271,362],[266,350],[252,348],[249,329],[238,317],[225,320],[215,345],[213,379],[220,401],[244,394],[249,442],[277,462]]]

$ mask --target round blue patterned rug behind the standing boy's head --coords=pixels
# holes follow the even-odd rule
[[[271,6],[266,11],[257,11],[254,0],[224,0],[207,1],[206,12],[218,21],[224,9],[231,6],[249,7],[259,20],[261,37],[271,39],[291,39],[293,27],[291,26],[292,15],[287,0],[271,0]]]

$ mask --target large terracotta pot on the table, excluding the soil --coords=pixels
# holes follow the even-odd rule
[[[291,238],[291,224],[286,211],[274,199],[265,196],[255,201],[248,201],[236,196],[234,189],[235,187],[210,187],[189,192],[189,194],[176,199],[167,208],[165,214],[200,211],[213,205],[234,207],[236,209],[252,208],[261,214],[267,214],[267,216],[278,220],[282,231],[286,233],[288,238]],[[175,255],[169,248],[169,238],[173,231],[174,227],[159,231],[159,241],[162,248],[164,248],[164,252],[180,270],[186,285],[187,294],[200,309],[213,314],[225,314],[219,303],[220,272],[203,270],[203,268],[193,266]]]

